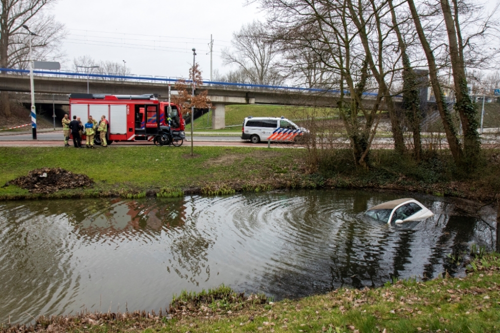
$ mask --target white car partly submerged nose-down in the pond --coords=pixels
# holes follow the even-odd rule
[[[383,204],[371,207],[365,214],[386,223],[423,221],[434,215],[434,213],[412,198],[384,202]]]

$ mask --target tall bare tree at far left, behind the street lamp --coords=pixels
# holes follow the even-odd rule
[[[0,0],[0,66],[2,68],[26,68],[29,63],[27,31],[32,36],[31,48],[34,59],[53,60],[62,56],[60,44],[66,31],[44,9],[56,0]],[[5,117],[10,114],[7,91],[1,92],[1,105]]]

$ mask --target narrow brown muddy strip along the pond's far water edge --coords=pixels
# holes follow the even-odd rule
[[[391,190],[402,192],[415,192],[431,194],[440,197],[454,197],[487,203],[495,198],[495,191],[491,188],[483,187],[480,182],[450,182],[436,184],[417,184],[411,182],[388,182],[388,183],[367,183],[351,177],[336,177],[324,179],[311,175],[296,175],[294,177],[278,177],[274,180],[233,180],[220,182],[207,182],[195,184],[183,188],[134,188],[120,187],[115,185],[115,189],[101,189],[99,186],[88,185],[91,180],[82,180],[83,185],[74,186],[85,187],[73,190],[45,190],[40,189],[30,191],[25,194],[4,194],[0,195],[0,201],[7,200],[42,200],[42,199],[80,199],[96,197],[121,197],[128,199],[138,199],[143,197],[179,197],[182,195],[230,195],[242,192],[266,192],[272,190],[300,190],[300,189],[368,189],[368,190]],[[6,185],[14,185],[15,182],[8,182]],[[71,188],[71,187],[69,187]]]

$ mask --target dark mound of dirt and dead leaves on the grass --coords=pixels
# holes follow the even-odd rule
[[[75,174],[62,168],[42,168],[30,171],[27,176],[11,180],[5,183],[5,186],[17,185],[31,193],[48,194],[92,184],[93,181],[86,175]]]

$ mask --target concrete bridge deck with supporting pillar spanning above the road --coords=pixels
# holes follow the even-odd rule
[[[52,75],[57,73],[51,73]],[[86,93],[87,78],[86,75],[79,77],[67,76],[34,76],[35,102],[37,104],[54,104],[58,106],[68,105],[68,94]],[[168,98],[168,82],[158,82],[151,78],[126,77],[120,79],[118,76],[91,74],[88,79],[90,93],[108,93],[117,95],[138,95],[144,93],[156,93],[159,99]],[[101,77],[99,77],[101,76]],[[140,81],[138,80],[140,79]],[[213,84],[212,84],[213,83]],[[218,84],[217,84],[218,83]],[[286,87],[255,87],[251,85],[238,86],[229,85],[230,83],[211,82],[195,90],[199,93],[201,90],[208,90],[214,110],[212,110],[212,128],[220,129],[225,126],[225,106],[231,104],[275,104],[275,105],[299,105],[299,106],[321,106],[336,107],[338,94],[325,93],[324,91],[314,91],[319,89],[296,89]],[[244,85],[244,84],[241,84]],[[172,89],[173,89],[172,82]],[[0,90],[9,91],[12,98],[22,103],[29,103],[30,86],[29,75],[25,73],[7,74],[0,72]],[[175,92],[175,91],[174,91]],[[372,99],[366,98],[366,107],[370,107]],[[399,103],[400,104],[400,103]]]

